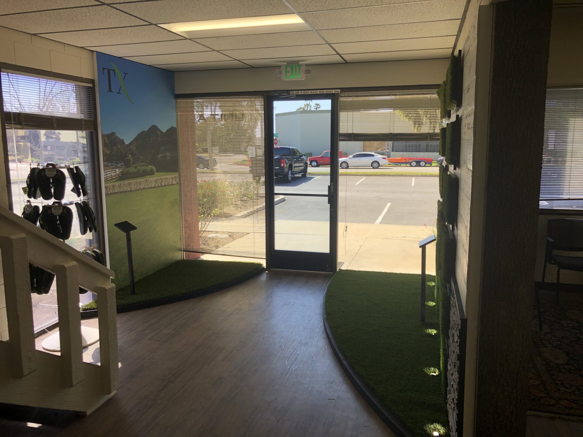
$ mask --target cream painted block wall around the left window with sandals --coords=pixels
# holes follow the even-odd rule
[[[0,27],[0,62],[36,68],[47,72],[93,79],[93,52],[85,48],[58,43],[6,27]],[[0,206],[8,207],[8,189],[4,170],[4,146],[0,137]],[[19,206],[15,206],[18,210]],[[1,254],[0,254],[1,256]],[[0,340],[8,340],[4,280],[0,265]]]

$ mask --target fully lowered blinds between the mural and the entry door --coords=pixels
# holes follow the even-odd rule
[[[177,100],[182,249],[265,258],[262,97]]]

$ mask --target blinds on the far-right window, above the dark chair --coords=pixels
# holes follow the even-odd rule
[[[540,199],[583,199],[583,89],[547,90]]]

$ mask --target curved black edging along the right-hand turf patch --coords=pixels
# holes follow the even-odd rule
[[[381,400],[378,399],[378,396],[374,394],[373,390],[371,390],[366,383],[364,383],[362,378],[360,378],[360,375],[354,370],[348,360],[346,360],[344,354],[340,352],[340,348],[334,339],[332,330],[328,325],[328,319],[326,318],[326,293],[328,293],[328,287],[326,287],[324,301],[322,302],[322,319],[324,320],[324,330],[326,332],[326,337],[328,338],[328,343],[332,348],[336,360],[338,360],[338,364],[340,364],[340,367],[342,367],[342,370],[346,373],[346,376],[348,376],[348,379],[350,379],[350,382],[352,382],[352,385],[357,392],[360,393],[360,396],[363,397],[368,406],[373,408],[373,411],[383,422],[385,422],[387,427],[389,427],[397,437],[414,437],[409,428],[407,428],[401,420],[396,418],[395,415],[382,404]]]

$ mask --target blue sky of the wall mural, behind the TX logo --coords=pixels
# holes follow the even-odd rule
[[[176,125],[173,72],[97,52],[97,79],[101,132],[129,143],[152,125],[162,131]]]

